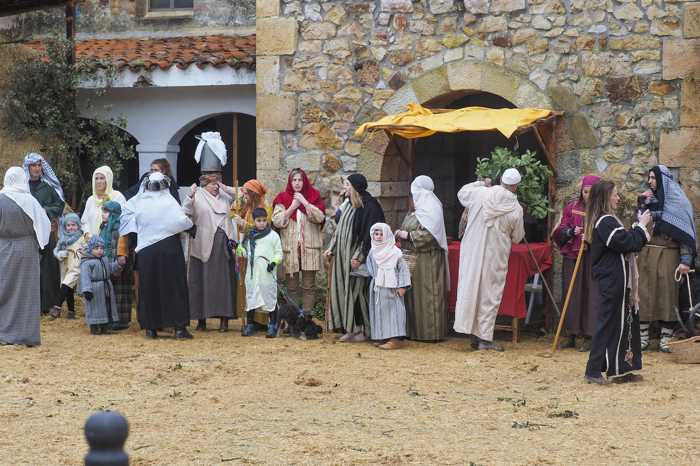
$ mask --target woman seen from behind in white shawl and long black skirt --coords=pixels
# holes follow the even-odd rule
[[[170,179],[159,172],[144,180],[139,194],[122,209],[120,235],[137,233],[139,323],[147,338],[173,327],[175,340],[192,338],[187,268],[181,233],[193,234],[192,220],[169,193]]]

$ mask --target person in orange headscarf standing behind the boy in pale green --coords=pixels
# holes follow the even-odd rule
[[[267,224],[272,225],[272,203],[265,202],[267,189],[258,180],[248,180],[241,186],[241,194],[231,205],[231,218],[236,222],[239,233],[248,233],[253,228],[253,210],[262,207],[267,212]],[[242,202],[241,202],[242,201]],[[240,238],[237,238],[240,240]],[[236,303],[237,315],[245,320],[246,315],[246,266],[239,265],[240,279],[238,282],[238,297]],[[267,328],[267,313],[255,312],[255,323]],[[242,329],[241,329],[242,330]]]

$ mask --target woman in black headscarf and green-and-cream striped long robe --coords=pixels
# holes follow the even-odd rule
[[[370,226],[384,221],[384,210],[367,193],[367,180],[355,173],[344,183],[348,199],[340,206],[340,218],[324,256],[333,254],[328,309],[328,330],[342,329],[341,342],[370,340],[369,280],[351,277],[350,269],[365,262],[370,251]]]

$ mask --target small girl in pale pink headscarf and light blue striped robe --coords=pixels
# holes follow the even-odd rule
[[[401,249],[395,245],[391,227],[376,223],[370,227],[372,247],[367,261],[351,275],[372,277],[370,282],[370,335],[379,349],[398,349],[397,337],[406,335],[404,295],[411,287],[411,275]]]

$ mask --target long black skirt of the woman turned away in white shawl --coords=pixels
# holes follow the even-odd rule
[[[141,328],[154,330],[190,325],[187,268],[180,235],[144,247],[137,256]]]

